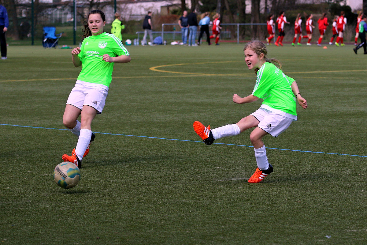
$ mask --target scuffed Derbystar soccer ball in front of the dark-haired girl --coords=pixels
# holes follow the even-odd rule
[[[55,167],[54,181],[56,184],[65,189],[76,186],[80,179],[79,167],[71,162],[62,162]]]

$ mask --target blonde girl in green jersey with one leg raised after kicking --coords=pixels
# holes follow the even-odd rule
[[[297,120],[296,103],[302,108],[307,108],[307,101],[299,93],[297,83],[294,79],[284,75],[280,70],[280,62],[275,59],[266,58],[268,51],[264,43],[254,40],[244,47],[245,62],[248,69],[254,69],[257,74],[252,94],[241,98],[233,95],[233,102],[245,104],[263,100],[261,107],[235,124],[229,124],[216,129],[205,127],[202,123],[195,121],[194,130],[211,145],[214,140],[226,136],[235,136],[246,129],[255,127],[250,134],[250,140],[254,145],[257,169],[248,180],[249,183],[259,183],[265,176],[273,172],[273,166],[266,157],[265,145],[262,138],[270,134],[277,137],[286,130],[292,121]],[[274,65],[274,64],[276,65]]]

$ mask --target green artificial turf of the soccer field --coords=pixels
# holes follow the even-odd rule
[[[260,106],[232,102],[256,79],[243,44],[127,46],[81,180],[65,190],[52,174],[77,143],[62,115],[80,68],[71,49],[9,46],[1,244],[367,244],[367,55],[353,47],[268,47],[309,108],[264,137],[274,172],[249,184],[251,130],[207,146],[192,127],[236,123]]]

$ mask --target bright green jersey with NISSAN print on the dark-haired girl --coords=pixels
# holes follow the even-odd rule
[[[104,61],[103,54],[110,57],[130,55],[121,41],[110,33],[86,37],[78,54],[82,65],[78,80],[110,86],[114,63]]]

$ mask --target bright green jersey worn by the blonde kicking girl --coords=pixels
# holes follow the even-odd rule
[[[265,62],[257,72],[252,95],[264,100],[261,108],[297,120],[295,96],[291,84],[294,79],[270,62]]]

